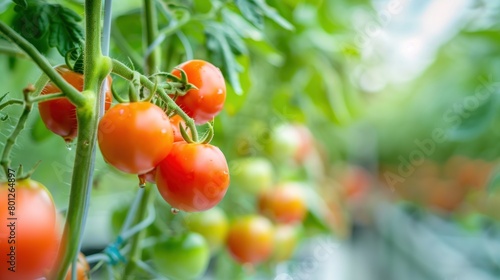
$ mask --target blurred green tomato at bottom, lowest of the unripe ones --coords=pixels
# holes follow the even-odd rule
[[[156,269],[173,280],[199,279],[205,273],[209,260],[207,242],[194,232],[169,237],[153,248]]]

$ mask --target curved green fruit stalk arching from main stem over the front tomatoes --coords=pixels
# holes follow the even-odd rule
[[[127,80],[132,80],[134,78],[134,71],[132,69],[128,68],[125,64],[121,63],[118,60],[113,59],[113,73],[118,74],[122,76],[123,78]],[[140,76],[140,81],[143,86],[145,86],[149,90],[154,90],[155,84],[151,82],[146,76],[141,75]],[[198,132],[196,130],[196,125],[193,121],[192,118],[190,118],[176,103],[175,101],[168,96],[168,94],[163,90],[161,87],[158,87],[156,89],[156,92],[160,95],[163,101],[165,101],[168,105],[169,108],[172,108],[172,110],[175,111],[176,114],[178,114],[185,122],[186,125],[189,127],[192,133],[192,138],[193,141],[197,142],[198,141]]]

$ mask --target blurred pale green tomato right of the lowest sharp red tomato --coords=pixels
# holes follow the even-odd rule
[[[234,160],[230,164],[230,171],[233,183],[250,194],[258,194],[273,185],[273,166],[265,158]]]

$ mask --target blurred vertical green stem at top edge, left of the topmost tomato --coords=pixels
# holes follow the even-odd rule
[[[144,24],[144,34],[146,40],[146,49],[154,42],[156,37],[158,37],[158,17],[155,10],[154,0],[144,0],[144,12],[143,12],[143,24]],[[144,70],[146,74],[152,74],[159,70],[160,62],[160,50],[154,48],[151,53],[146,57],[146,65],[144,65]]]

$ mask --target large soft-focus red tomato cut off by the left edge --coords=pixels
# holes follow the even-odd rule
[[[54,201],[47,189],[34,180],[17,181],[15,192],[10,189],[7,183],[0,183],[0,219],[12,226],[4,225],[5,229],[0,230],[0,279],[43,277],[54,264],[60,241]],[[9,194],[15,198],[13,213],[8,209],[8,199],[13,198]],[[15,247],[13,257],[9,255],[11,246]],[[15,272],[8,270],[12,258]]]

